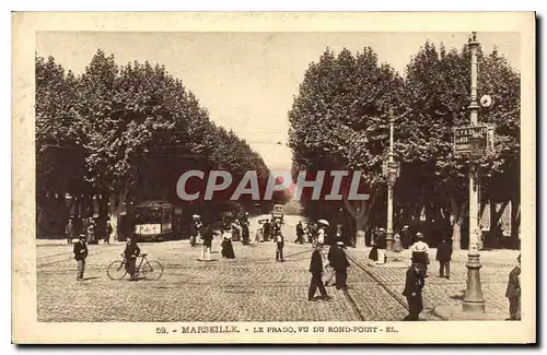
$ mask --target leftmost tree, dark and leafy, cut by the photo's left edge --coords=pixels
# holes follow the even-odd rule
[[[53,57],[45,60],[38,56],[35,78],[37,233],[56,233],[40,229],[40,212],[60,212],[68,218],[77,201],[66,201],[66,193],[78,194],[84,189],[83,153],[79,149],[83,131],[74,110],[78,80]]]

